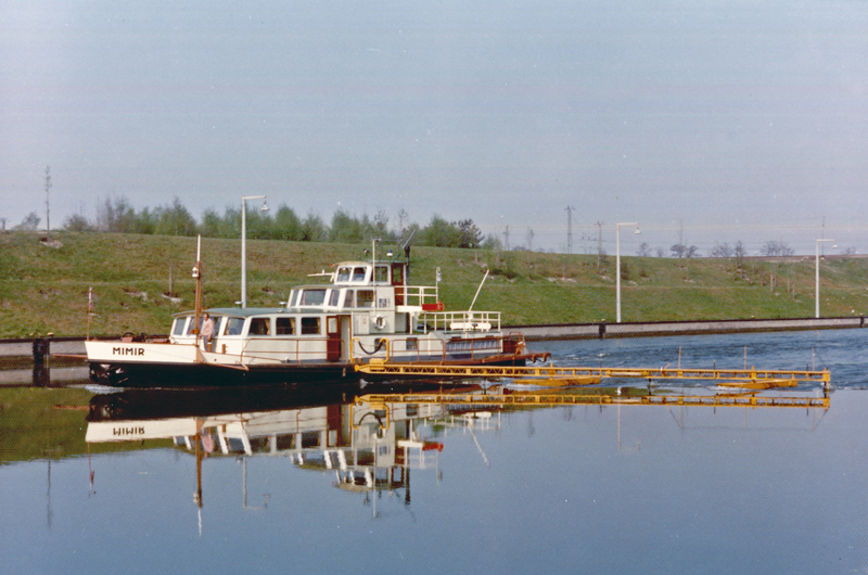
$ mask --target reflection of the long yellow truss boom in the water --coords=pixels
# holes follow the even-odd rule
[[[602,394],[533,393],[413,393],[368,394],[359,396],[372,407],[386,404],[448,404],[467,406],[527,406],[550,407],[564,405],[635,405],[635,406],[703,406],[703,407],[794,407],[829,408],[829,397],[764,397],[758,395],[648,395],[617,396]]]

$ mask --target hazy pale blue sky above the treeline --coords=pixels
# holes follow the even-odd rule
[[[866,54],[865,1],[5,0],[0,218],[44,227],[50,166],[52,229],[265,194],[560,252],[638,222],[623,254],[868,253]]]

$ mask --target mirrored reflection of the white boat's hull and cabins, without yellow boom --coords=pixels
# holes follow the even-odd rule
[[[129,389],[91,399],[86,442],[173,439],[200,462],[200,502],[201,463],[219,457],[283,457],[333,473],[343,490],[404,488],[409,502],[410,470],[434,469],[444,449],[434,425],[472,421],[467,408],[452,414],[445,405],[367,404],[342,393]]]

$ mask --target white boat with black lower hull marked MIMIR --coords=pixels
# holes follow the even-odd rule
[[[438,286],[408,285],[404,261],[344,261],[329,283],[294,288],[284,307],[212,308],[175,316],[168,337],[88,341],[91,379],[116,386],[357,382],[355,367],[390,362],[521,366],[529,354],[498,311],[447,311]],[[472,308],[472,305],[471,305]]]

